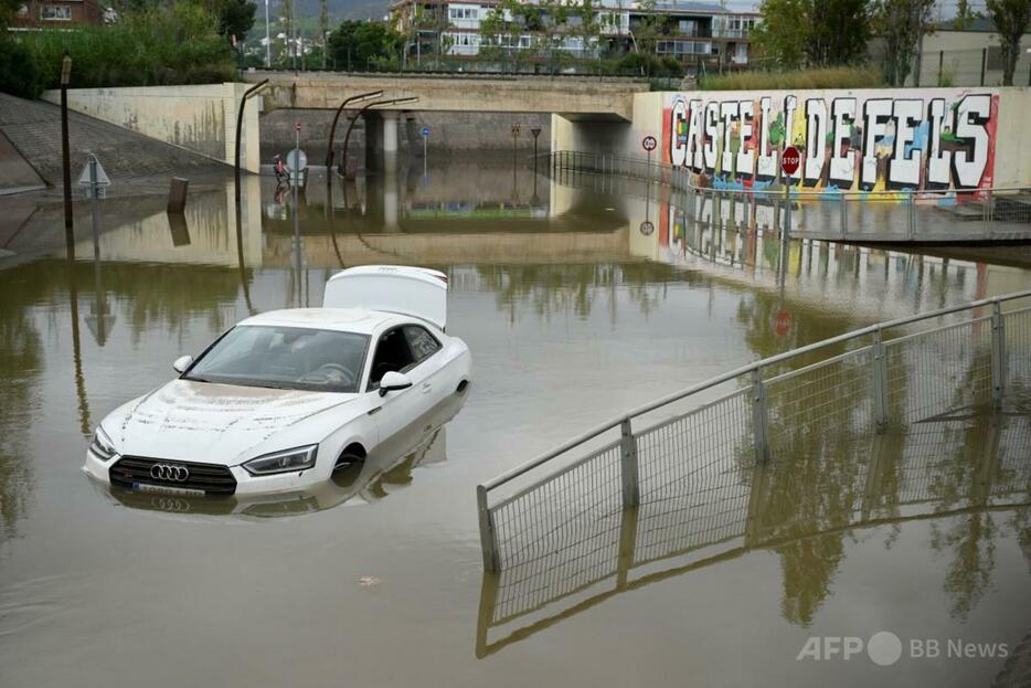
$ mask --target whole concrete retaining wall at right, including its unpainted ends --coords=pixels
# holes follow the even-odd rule
[[[969,190],[1031,186],[1031,88],[647,93],[629,123],[552,120],[552,149],[688,167],[715,188],[764,188],[794,145],[810,189]],[[808,152],[808,156],[807,156]]]

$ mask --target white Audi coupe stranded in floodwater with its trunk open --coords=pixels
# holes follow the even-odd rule
[[[445,334],[447,277],[352,267],[321,308],[243,320],[179,378],[111,412],[83,470],[113,487],[177,495],[298,490],[363,461],[470,380]]]

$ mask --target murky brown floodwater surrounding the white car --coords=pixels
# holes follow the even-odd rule
[[[674,495],[606,531],[582,585],[567,579],[575,548],[485,575],[475,499],[478,483],[725,370],[1027,289],[1027,247],[783,251],[698,227],[659,189],[481,162],[330,190],[313,173],[297,205],[265,178],[244,191],[238,231],[228,182],[194,194],[184,222],[161,199],[105,201],[96,254],[83,207],[74,261],[60,209],[42,208],[0,258],[0,686],[1031,676],[1027,414],[775,455],[761,498],[709,500],[743,536],[682,544],[694,496]],[[93,427],[177,357],[252,313],[318,305],[334,271],[370,263],[448,274],[448,330],[474,356],[461,403],[289,498],[113,493],[81,473]],[[661,527],[642,540],[642,522]],[[892,666],[812,657],[812,637],[833,648],[882,631],[904,644]],[[914,654],[931,641],[937,656]]]

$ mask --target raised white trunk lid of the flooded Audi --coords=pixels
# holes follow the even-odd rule
[[[407,265],[349,267],[326,283],[323,308],[368,308],[447,325],[447,275]]]

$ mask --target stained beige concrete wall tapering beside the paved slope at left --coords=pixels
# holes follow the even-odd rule
[[[247,84],[73,88],[68,107],[144,136],[179,146],[204,157],[233,163],[236,107]],[[60,103],[57,91],[44,100]],[[241,165],[257,172],[261,165],[258,100],[245,110]]]

